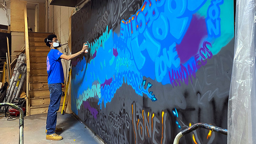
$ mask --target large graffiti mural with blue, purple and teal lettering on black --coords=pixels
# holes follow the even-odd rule
[[[167,144],[227,128],[233,1],[91,0],[72,16],[71,107],[108,144]],[[196,130],[182,144],[226,143]]]

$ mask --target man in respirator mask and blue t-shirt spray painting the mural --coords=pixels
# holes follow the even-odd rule
[[[55,132],[62,131],[62,128],[56,128],[57,112],[60,107],[60,99],[62,96],[62,83],[64,83],[64,73],[61,59],[70,60],[85,52],[88,46],[83,44],[82,50],[75,54],[65,55],[57,48],[62,45],[57,39],[55,34],[50,34],[44,39],[46,45],[50,48],[47,55],[47,74],[48,74],[48,87],[50,91],[50,104],[48,108],[47,121],[46,121],[46,139],[48,140],[62,140],[63,137],[57,135]]]

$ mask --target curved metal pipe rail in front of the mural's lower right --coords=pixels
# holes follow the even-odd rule
[[[204,129],[212,130],[213,132],[228,135],[228,130],[227,129],[212,126],[212,125],[207,124],[207,123],[196,123],[196,124],[193,124],[192,126],[186,128],[186,129],[183,129],[180,133],[178,133],[176,135],[175,139],[174,139],[173,144],[178,144],[178,142],[179,142],[179,140],[182,136],[184,136],[188,133],[191,133],[191,132],[193,132],[194,130],[196,130],[198,128],[204,128]]]

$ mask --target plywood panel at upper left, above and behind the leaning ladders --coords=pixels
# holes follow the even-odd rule
[[[27,5],[27,1],[11,0],[11,31],[25,31],[24,5]]]

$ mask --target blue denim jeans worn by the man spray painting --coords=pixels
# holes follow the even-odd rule
[[[48,87],[50,91],[50,105],[48,108],[46,129],[47,134],[54,134],[57,123],[57,112],[59,111],[60,99],[62,96],[62,84],[49,84]]]

